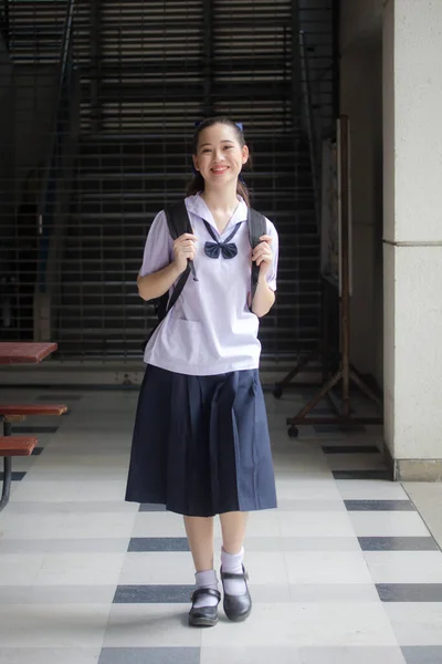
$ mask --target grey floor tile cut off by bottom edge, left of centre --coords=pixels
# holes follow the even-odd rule
[[[199,647],[104,647],[98,664],[200,664]]]

